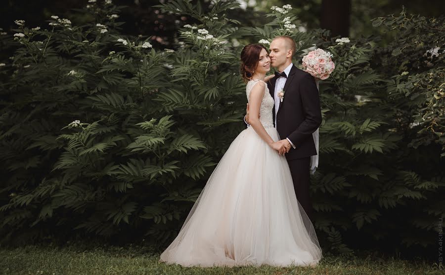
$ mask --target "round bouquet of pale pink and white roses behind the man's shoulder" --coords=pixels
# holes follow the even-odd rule
[[[303,70],[312,74],[313,77],[324,80],[335,69],[332,56],[330,52],[322,49],[313,50],[303,57]]]

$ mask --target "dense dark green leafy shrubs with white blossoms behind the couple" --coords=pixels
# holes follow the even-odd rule
[[[272,10],[267,24],[248,27],[232,16],[243,13],[235,1],[170,1],[154,8],[190,24],[164,49],[126,33],[122,8],[90,1],[79,23],[48,16],[40,28],[17,21],[1,33],[1,52],[13,53],[0,61],[2,243],[101,238],[163,247],[244,129],[242,46],[287,34],[297,42],[295,64],[314,45],[336,64],[320,83],[311,185],[324,251],[437,256],[443,16],[402,10],[372,21],[390,42],[339,43],[299,28],[296,9]]]

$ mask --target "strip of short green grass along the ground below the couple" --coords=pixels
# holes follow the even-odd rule
[[[424,275],[445,274],[444,267],[425,261],[396,258],[326,256],[316,268],[183,268],[159,263],[159,252],[146,247],[29,245],[0,248],[0,274],[308,274],[308,275]]]

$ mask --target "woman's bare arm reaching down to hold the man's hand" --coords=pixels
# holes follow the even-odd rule
[[[266,129],[264,129],[263,124],[261,124],[260,121],[260,107],[264,97],[265,87],[266,84],[264,82],[258,81],[250,92],[249,123],[260,138],[266,141],[274,150],[277,150],[280,155],[284,155],[284,152],[286,151],[285,146],[279,142],[274,142],[269,134],[267,134]]]

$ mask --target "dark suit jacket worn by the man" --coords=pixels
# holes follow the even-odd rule
[[[277,76],[267,82],[273,99]],[[273,122],[281,139],[289,138],[296,149],[291,148],[285,154],[288,160],[316,155],[312,133],[321,124],[321,108],[315,79],[308,72],[292,66],[284,85],[284,98],[280,102],[275,117],[273,107]]]

